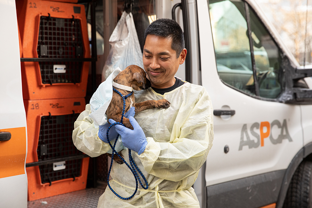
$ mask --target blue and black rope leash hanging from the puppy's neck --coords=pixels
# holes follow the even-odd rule
[[[126,99],[127,99],[129,96],[131,96],[132,93],[133,93],[133,92],[131,92],[131,93],[129,93],[128,95],[122,95],[122,94],[121,94],[118,90],[116,90],[114,87],[113,87],[113,90],[114,90],[115,92],[117,92],[117,93],[121,96],[121,98],[122,98],[123,101],[124,101],[124,106],[123,106],[123,110],[122,110],[122,114],[121,114],[121,121],[120,121],[120,122],[115,122],[115,123],[111,124],[110,127],[108,127],[108,129],[107,129],[106,138],[107,138],[108,144],[110,144],[110,140],[109,140],[109,138],[108,138],[108,132],[109,132],[110,128],[111,128],[113,125],[116,125],[116,124],[123,125],[123,124],[122,124],[122,121],[123,121],[123,119],[124,119],[124,110],[125,110],[125,108],[126,108]],[[123,125],[123,126],[124,126],[124,125]],[[139,183],[140,183],[141,187],[144,188],[144,189],[148,189],[148,188],[149,188],[149,184],[148,184],[146,178],[144,177],[143,173],[140,171],[140,169],[138,168],[138,166],[134,163],[134,160],[133,160],[132,155],[131,155],[131,149],[128,149],[128,150],[129,150],[129,161],[130,161],[131,167],[130,167],[130,165],[124,160],[124,158],[122,158],[122,157],[118,154],[118,152],[116,152],[115,146],[116,146],[116,143],[117,143],[118,136],[119,136],[119,134],[117,135],[117,137],[116,137],[116,139],[115,139],[114,146],[112,146],[112,144],[110,144],[110,147],[112,148],[112,158],[111,158],[111,162],[110,162],[110,169],[109,169],[108,175],[107,175],[107,185],[108,185],[108,187],[110,188],[110,190],[111,190],[116,196],[118,196],[120,199],[128,200],[128,199],[131,199],[131,198],[136,194],[136,192],[138,191],[138,180],[139,180]],[[112,165],[113,165],[114,154],[116,154],[116,155],[127,165],[127,167],[131,170],[131,172],[132,172],[132,174],[133,174],[133,176],[134,176],[134,179],[135,179],[135,190],[134,190],[134,193],[133,193],[131,196],[126,197],[126,198],[125,198],[125,197],[122,197],[122,196],[120,196],[120,195],[118,195],[118,194],[113,190],[113,188],[110,186],[109,177],[110,177],[110,171],[111,171]],[[144,186],[144,185],[142,184],[142,182],[141,182],[141,180],[140,180],[140,177],[139,177],[139,175],[138,175],[138,173],[136,172],[135,169],[139,172],[139,174],[140,174],[141,177],[143,178],[143,180],[144,180],[146,186]]]

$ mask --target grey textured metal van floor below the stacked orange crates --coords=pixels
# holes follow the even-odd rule
[[[104,187],[87,188],[27,202],[27,208],[97,208]]]

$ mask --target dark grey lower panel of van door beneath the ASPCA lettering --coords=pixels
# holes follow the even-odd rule
[[[285,170],[207,187],[208,207],[258,208],[278,199]]]

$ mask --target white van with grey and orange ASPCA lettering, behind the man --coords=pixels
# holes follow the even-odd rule
[[[188,56],[176,76],[212,99],[213,146],[193,186],[201,207],[312,206],[312,92],[304,81],[312,69],[300,68],[255,0],[151,2],[157,18],[175,18],[184,30]],[[2,131],[25,128],[26,119],[15,2],[0,5]],[[26,207],[26,172],[2,168],[1,148],[12,141],[0,141],[0,207]]]

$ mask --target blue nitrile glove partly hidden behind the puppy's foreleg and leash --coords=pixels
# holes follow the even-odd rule
[[[130,116],[133,117],[134,114],[135,114],[135,111],[134,111],[134,110],[135,110],[135,108],[134,108],[134,107],[131,107],[131,108],[129,109],[129,111],[127,111],[127,112],[124,114],[124,117],[126,117],[126,118],[129,118]],[[119,122],[120,122],[120,121],[119,121]],[[115,123],[115,122],[113,122],[113,123]],[[100,125],[100,126],[99,126],[99,133],[98,133],[99,138],[100,138],[103,142],[107,143],[106,132],[107,132],[108,128],[110,127],[110,131],[108,132],[108,137],[109,137],[110,141],[116,139],[118,133],[117,133],[116,130],[115,130],[115,126],[116,126],[116,125],[113,125],[112,127],[110,127],[110,123],[106,123],[106,124],[104,124],[104,125]]]

